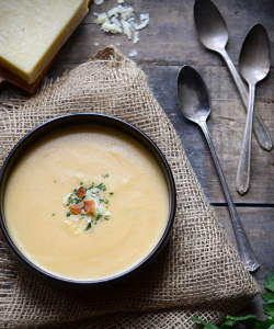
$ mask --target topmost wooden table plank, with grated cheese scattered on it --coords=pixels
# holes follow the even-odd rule
[[[274,2],[256,0],[215,0],[222,13],[228,29],[229,42],[227,50],[235,64],[238,63],[242,41],[249,29],[255,23],[263,23],[267,29],[272,48],[274,46]],[[201,44],[195,31],[193,20],[193,1],[159,1],[141,0],[125,1],[125,4],[133,5],[136,12],[136,20],[139,13],[148,12],[150,22],[147,29],[140,31],[140,42],[133,45],[125,35],[113,35],[103,33],[101,26],[96,25],[95,12],[107,12],[116,5],[116,0],[105,1],[102,5],[90,7],[90,13],[83,23],[77,29],[66,45],[66,49],[60,54],[64,61],[84,61],[98,48],[103,48],[111,44],[117,46],[128,54],[134,48],[137,49],[136,60],[140,64],[152,65],[182,65],[187,61],[191,65],[224,66],[224,61],[218,54],[206,50]],[[100,43],[99,47],[94,43]],[[149,46],[148,46],[149,45]],[[274,63],[274,53],[272,54]]]

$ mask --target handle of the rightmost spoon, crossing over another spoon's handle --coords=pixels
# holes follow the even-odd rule
[[[240,194],[244,194],[250,185],[250,162],[251,162],[251,143],[252,143],[252,122],[254,109],[255,87],[250,84],[249,110],[246,123],[240,162],[237,171],[236,189]]]

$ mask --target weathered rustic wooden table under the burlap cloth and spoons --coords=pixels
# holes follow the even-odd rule
[[[214,2],[227,22],[227,52],[236,67],[242,41],[249,29],[256,23],[262,23],[269,32],[274,63],[274,1]],[[140,31],[137,45],[127,41],[125,35],[102,33],[100,26],[94,24],[93,11],[106,12],[116,3],[116,0],[105,0],[99,7],[91,4],[89,14],[67,42],[47,77],[61,76],[66,70],[88,60],[100,48],[111,44],[125,55],[136,49],[138,55],[133,59],[146,72],[148,83],[173,123],[209,203],[236,246],[227,203],[205,138],[199,127],[186,121],[178,106],[175,86],[179,69],[185,64],[196,68],[212,95],[209,132],[242,225],[260,262],[261,268],[253,275],[263,290],[264,277],[274,266],[274,150],[262,150],[253,137],[251,188],[248,194],[240,196],[236,191],[236,172],[243,139],[246,110],[220,56],[206,50],[199,43],[193,21],[193,1],[125,0],[124,4],[132,5],[137,16],[147,12],[150,15],[149,26]],[[99,43],[99,46],[95,46],[95,43]],[[0,101],[7,101],[11,95],[12,89],[3,89]],[[258,84],[255,106],[274,138],[273,69],[267,78]],[[241,314],[255,314],[260,319],[264,319],[262,304],[263,300],[259,296]]]

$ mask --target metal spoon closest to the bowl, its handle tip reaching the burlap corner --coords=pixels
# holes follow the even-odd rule
[[[244,234],[240,217],[236,211],[232,197],[230,195],[225,175],[220,168],[220,163],[214,148],[209,132],[206,125],[206,118],[210,113],[212,101],[207,87],[203,78],[190,66],[183,66],[178,76],[178,100],[182,113],[190,120],[195,122],[203,129],[213,158],[220,178],[224,193],[227,198],[228,208],[230,212],[231,222],[235,229],[235,235],[238,242],[239,252],[246,268],[250,272],[259,269],[255,256],[249,245],[248,238]]]

